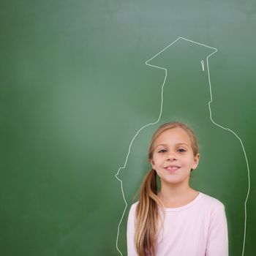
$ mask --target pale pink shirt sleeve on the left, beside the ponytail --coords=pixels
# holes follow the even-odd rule
[[[135,208],[136,204],[133,204],[129,210],[129,216],[127,221],[127,255],[138,256],[135,248]]]

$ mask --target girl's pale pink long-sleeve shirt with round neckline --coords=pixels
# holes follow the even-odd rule
[[[134,241],[137,204],[131,206],[127,222],[128,256],[138,256]],[[199,192],[186,206],[165,208],[163,227],[157,233],[155,256],[228,256],[225,206],[214,197]]]

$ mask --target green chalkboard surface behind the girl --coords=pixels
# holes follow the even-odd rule
[[[136,132],[157,121],[165,78],[145,61],[178,37],[218,49],[211,110],[246,150],[244,255],[255,255],[255,1],[4,0],[0,29],[1,255],[120,255],[125,204],[115,174]],[[177,43],[152,60],[168,74],[159,124],[195,129],[201,159],[191,185],[225,204],[230,256],[240,256],[248,172],[240,141],[209,118],[200,64],[208,54]],[[159,124],[138,134],[120,171],[128,208]]]

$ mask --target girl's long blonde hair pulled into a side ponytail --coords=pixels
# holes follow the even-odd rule
[[[148,148],[148,161],[154,153],[154,142],[167,129],[181,128],[189,135],[194,156],[198,153],[197,138],[187,124],[177,121],[162,124],[152,136]],[[154,256],[157,250],[157,228],[159,222],[158,206],[164,208],[157,197],[157,172],[151,169],[140,187],[140,200],[136,208],[135,246],[139,256]]]

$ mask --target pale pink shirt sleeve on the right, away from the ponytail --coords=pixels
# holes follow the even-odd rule
[[[220,203],[211,214],[206,256],[228,256],[228,231],[225,206]]]

